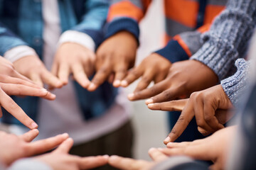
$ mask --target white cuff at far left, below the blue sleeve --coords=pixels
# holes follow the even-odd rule
[[[11,48],[11,50],[8,50],[4,53],[4,57],[6,58],[6,60],[9,60],[10,62],[15,62],[21,57],[25,57],[28,55],[37,56],[36,51],[33,50],[33,48],[28,47],[26,45],[19,45],[17,47],[13,47]]]

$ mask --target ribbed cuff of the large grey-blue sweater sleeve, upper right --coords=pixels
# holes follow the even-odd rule
[[[205,43],[191,60],[203,62],[213,72],[218,75],[219,80],[225,79],[235,59],[238,58],[238,52],[232,45],[229,45],[225,40],[218,38],[216,35],[204,35]],[[207,40],[210,37],[210,40]]]

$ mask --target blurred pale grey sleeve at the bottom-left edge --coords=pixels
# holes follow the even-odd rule
[[[43,162],[39,162],[36,159],[19,159],[18,161],[14,162],[14,164],[11,164],[8,169],[6,170],[53,170],[50,166],[47,164],[44,164]]]

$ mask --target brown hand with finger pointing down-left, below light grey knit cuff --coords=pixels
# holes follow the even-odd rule
[[[178,103],[178,101],[175,102]],[[203,135],[224,128],[223,124],[227,123],[233,116],[228,112],[228,109],[232,107],[233,105],[221,85],[194,92],[164,143],[174,142],[194,116],[196,117],[198,131]]]

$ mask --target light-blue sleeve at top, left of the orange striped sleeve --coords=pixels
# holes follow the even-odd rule
[[[82,17],[82,21],[71,30],[84,33],[85,36],[89,35],[97,47],[104,38],[102,27],[106,23],[109,0],[88,0],[85,2],[85,8],[87,12]],[[90,41],[90,38],[86,40]]]

